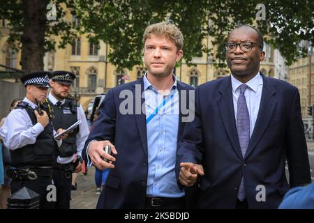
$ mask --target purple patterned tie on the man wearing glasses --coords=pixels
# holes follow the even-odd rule
[[[248,107],[246,106],[246,97],[244,96],[244,91],[246,91],[248,86],[246,84],[241,84],[239,88],[240,95],[237,102],[237,132],[242,157],[244,157],[246,149],[248,148],[248,142],[250,141],[250,116],[248,114]],[[242,176],[238,199],[243,201],[245,198],[246,192],[244,188],[244,176]]]

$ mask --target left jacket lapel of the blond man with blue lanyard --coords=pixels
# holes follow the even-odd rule
[[[137,85],[137,87],[135,86]],[[140,86],[140,91],[138,89],[138,87]],[[143,82],[143,78],[141,78],[138,82],[135,82],[134,86],[133,86],[133,97],[134,97],[134,114],[135,114],[135,120],[136,120],[136,123],[137,123],[137,130],[140,134],[140,140],[142,142],[142,148],[144,149],[144,154],[145,156],[147,157],[147,128],[146,128],[146,115],[145,115],[145,111],[142,111],[140,112],[140,114],[137,114],[135,111],[135,107],[139,106],[139,105],[136,105],[136,97],[138,97],[138,93],[140,92],[141,95],[143,95],[143,92],[144,92],[144,82]],[[135,92],[137,91],[137,92]],[[142,96],[140,97],[141,98],[141,109],[142,109],[142,105],[144,105],[145,103],[145,98],[142,98]],[[144,107],[145,109],[145,107]]]

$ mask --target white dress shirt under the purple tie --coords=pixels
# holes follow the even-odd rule
[[[241,84],[246,84],[248,88],[244,91],[244,96],[246,97],[246,106],[248,107],[248,114],[250,116],[250,137],[252,136],[258,110],[260,109],[260,100],[262,98],[262,89],[263,89],[263,78],[260,75],[260,72],[255,75],[246,83],[239,82],[231,75],[231,84],[232,84],[232,98],[233,98],[233,107],[234,107],[234,118],[237,123],[237,102],[240,95]]]

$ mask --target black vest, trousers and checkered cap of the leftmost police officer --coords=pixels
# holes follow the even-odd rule
[[[50,72],[33,72],[21,78],[21,81],[27,86],[34,84],[38,86],[48,87]],[[40,106],[41,109],[47,110],[47,105]],[[37,118],[34,109],[29,103],[19,102],[15,109],[25,109],[31,123],[36,125]],[[46,112],[49,112],[48,110]],[[24,117],[20,117],[24,118]],[[59,149],[54,140],[54,132],[52,123],[44,128],[43,132],[36,137],[35,144],[28,144],[10,150],[13,168],[9,170],[10,176],[13,178],[10,188],[12,194],[28,187],[34,192],[40,194],[40,207],[43,209],[54,208],[53,202],[47,200],[47,186],[52,185],[52,174],[56,157],[59,154]],[[29,172],[29,174],[25,174]],[[36,175],[34,176],[33,173]]]

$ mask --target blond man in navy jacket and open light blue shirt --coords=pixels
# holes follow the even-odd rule
[[[111,89],[101,103],[83,151],[85,160],[98,169],[111,168],[97,208],[186,208],[175,164],[194,89],[172,74],[183,41],[174,24],[147,26],[146,74]],[[103,151],[106,145],[113,155]]]

